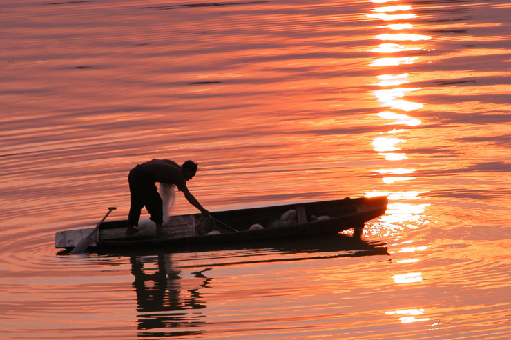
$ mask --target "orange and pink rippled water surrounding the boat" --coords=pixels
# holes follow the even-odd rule
[[[510,5],[4,1],[5,339],[509,339]],[[346,237],[58,254],[128,171],[209,210],[387,194]],[[195,212],[177,194],[175,212]]]

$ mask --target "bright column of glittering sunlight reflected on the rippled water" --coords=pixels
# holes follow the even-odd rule
[[[385,3],[386,1],[373,1],[375,3]],[[397,15],[389,15],[387,12],[403,12],[402,14]],[[372,12],[381,13],[383,15],[375,15],[368,14],[368,17],[382,19],[385,21],[393,21],[403,19],[412,19],[418,18],[418,15],[413,13],[413,7],[406,6],[386,6],[386,7],[375,7],[372,9]],[[386,26],[387,28],[391,28],[393,30],[412,30],[413,25],[411,23],[399,22],[396,24],[389,24]],[[424,34],[414,34],[411,32],[399,32],[399,33],[383,33],[378,34],[376,39],[380,39],[385,41],[385,43],[380,44],[378,48],[373,48],[371,52],[383,54],[383,57],[377,58],[372,62],[371,66],[374,68],[378,68],[378,74],[376,78],[379,80],[376,83],[376,86],[379,86],[380,90],[375,90],[374,96],[380,106],[385,108],[390,108],[392,111],[382,111],[378,113],[378,116],[386,121],[390,121],[385,123],[385,125],[392,126],[403,126],[406,128],[402,128],[401,130],[389,130],[387,132],[382,132],[381,134],[392,135],[389,136],[380,136],[376,137],[372,141],[372,145],[374,146],[374,151],[378,152],[378,154],[385,157],[387,161],[392,161],[392,165],[397,165],[399,161],[404,161],[408,159],[407,154],[402,152],[403,149],[406,149],[407,140],[400,138],[400,134],[409,130],[409,128],[414,128],[416,126],[420,126],[422,121],[416,117],[413,117],[413,112],[416,110],[420,110],[423,108],[423,103],[417,103],[414,101],[407,101],[403,99],[403,97],[408,94],[416,91],[420,91],[421,88],[404,88],[400,87],[409,83],[410,74],[407,72],[404,73],[388,73],[386,68],[392,67],[392,71],[394,72],[396,66],[405,66],[412,65],[414,63],[419,62],[418,57],[409,57],[407,55],[400,55],[402,53],[409,53],[412,51],[420,51],[426,50],[424,46],[416,46],[416,42],[418,41],[428,41],[432,39],[432,37]],[[387,41],[391,41],[391,43],[387,43]],[[398,44],[399,43],[399,44]],[[401,45],[401,43],[409,43],[412,45]],[[388,57],[392,56],[392,57]],[[406,113],[404,113],[406,112]],[[397,147],[399,145],[399,147]],[[399,151],[398,154],[394,154],[395,151]],[[405,174],[413,174],[416,172],[415,168],[383,168],[375,170],[379,174],[383,175],[382,181],[387,186],[394,186],[399,182],[407,182],[413,181],[416,179],[416,176],[394,176],[388,177],[387,175],[405,175]],[[421,192],[423,194],[425,192]],[[376,195],[376,192],[368,193],[368,196]],[[398,250],[398,254],[409,254],[412,253],[414,256],[418,256],[416,252],[427,250],[427,246],[408,246],[409,243],[413,243],[414,240],[405,240],[403,241],[403,237],[401,236],[401,232],[403,232],[403,228],[423,228],[427,226],[430,221],[428,217],[425,215],[427,207],[430,206],[430,203],[422,203],[423,198],[419,195],[418,192],[392,192],[392,189],[389,189],[387,192],[387,198],[389,198],[389,205],[387,207],[387,214],[380,219],[378,223],[374,223],[372,226],[374,232],[376,234],[385,234],[387,237],[393,237],[396,240],[394,246],[400,247]],[[412,201],[413,203],[411,203]],[[416,203],[415,201],[418,201]],[[391,251],[391,254],[396,254],[395,251]],[[420,261],[419,258],[403,258],[399,257],[399,260],[396,263],[401,264],[402,266],[407,266],[407,269],[403,268],[402,270],[397,270],[398,272],[406,271],[411,268],[413,263],[418,263]],[[417,283],[421,283],[423,281],[423,274],[421,272],[405,272],[403,274],[394,274],[392,276],[394,283],[397,285],[414,285]],[[404,307],[404,306],[403,306]],[[407,309],[407,310],[395,310],[395,311],[386,311],[386,315],[396,315],[398,320],[401,323],[412,323],[412,322],[426,322],[430,321],[428,317],[422,317],[425,313],[424,308],[416,308],[416,309]],[[418,317],[421,316],[421,317]]]

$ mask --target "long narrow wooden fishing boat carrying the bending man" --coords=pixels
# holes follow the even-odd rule
[[[69,250],[93,232],[88,252],[119,248],[197,247],[224,243],[285,241],[354,229],[360,238],[365,223],[385,214],[387,197],[360,197],[291,203],[169,217],[165,237],[156,237],[154,223],[139,223],[140,231],[126,235],[127,220],[100,223],[95,228],[64,230],[55,234],[55,247]],[[152,226],[151,226],[152,224]]]

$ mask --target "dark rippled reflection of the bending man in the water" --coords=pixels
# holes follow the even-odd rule
[[[204,324],[200,319],[203,313],[188,312],[206,308],[200,287],[207,288],[211,279],[202,274],[206,270],[193,273],[199,282],[193,283],[193,289],[182,292],[180,270],[172,268],[171,255],[159,255],[157,268],[144,269],[142,257],[130,258],[131,273],[135,276],[133,286],[137,292],[138,329],[182,328],[180,331],[143,332],[139,337],[167,337],[175,335],[202,334],[200,330],[186,330]],[[149,261],[148,263],[154,263]],[[146,264],[148,264],[146,263]],[[150,273],[152,272],[152,273]]]

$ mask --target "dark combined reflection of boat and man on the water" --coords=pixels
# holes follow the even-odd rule
[[[250,243],[250,249],[243,244],[229,245],[229,249],[219,244],[200,250],[209,254],[201,256],[201,263],[193,265],[173,261],[173,257],[182,257],[186,253],[129,255],[137,295],[138,337],[203,334],[207,329],[204,290],[214,283],[208,273],[220,266],[388,255],[385,243],[363,241],[343,234],[291,239],[285,243],[260,241]],[[208,259],[215,260],[207,262]]]

